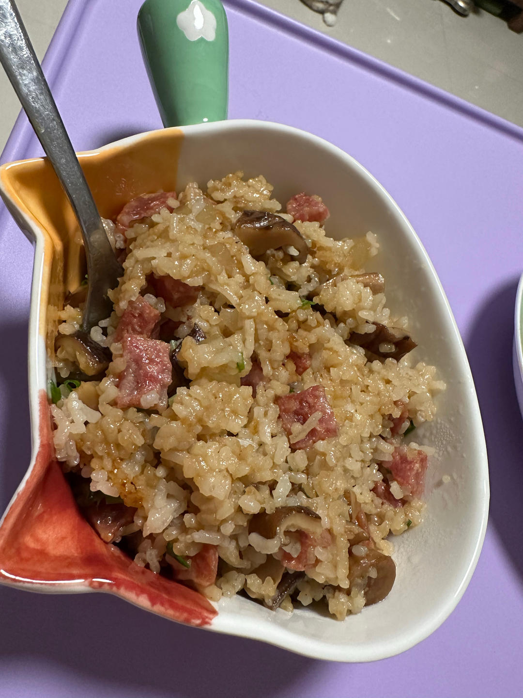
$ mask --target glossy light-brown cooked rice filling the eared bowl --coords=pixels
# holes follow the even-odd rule
[[[367,577],[377,574],[373,567],[363,579],[350,579],[350,556],[366,550],[358,543],[351,547],[361,530],[358,514],[365,514],[372,545],[387,556],[393,554],[389,534],[400,535],[423,518],[423,503],[397,482],[390,489],[404,500],[401,507],[372,491],[384,478],[380,464],[391,461],[403,441],[391,434],[391,419],[400,417],[405,404],[415,426],[432,420],[434,396],[444,384],[434,366],[413,362],[411,355],[399,362],[370,361],[362,348],[346,343],[351,333],[374,329],[373,322],[407,327],[407,318],[391,317],[384,293],[374,294],[352,278],[379,252],[372,232],[336,241],[319,223],[294,221],[308,244],[305,263],[293,260],[291,248],[261,260],[250,255],[232,228],[244,209],[280,211],[271,193],[264,177],[245,181],[242,173],[209,181],[205,191],[189,184],[172,213],[164,208],[127,230],[124,274],[111,294],[114,312],[91,332],[92,339],[111,348],[112,363],[96,383],[91,406],[77,390],[61,387],[61,399],[51,406],[54,446],[64,470],[88,479],[91,491],[136,507],[124,535],[142,532],[137,565],[159,573],[168,543],[185,559],[204,544],[217,547],[218,577],[200,590],[211,600],[241,591],[270,600],[276,584],[271,577],[260,579],[256,570],[280,546],[249,533],[250,519],[278,507],[308,507],[321,517],[330,541],[316,542],[314,564],[298,583],[294,601],[286,597],[282,608],[292,610],[296,598],[304,606],[324,599],[331,614],[343,619],[363,609]],[[140,409],[122,410],[114,401],[125,359],[121,343],[111,337],[153,273],[203,289],[195,304],[176,309],[146,296],[160,313],[182,323],[178,359],[190,385],[179,388],[160,411],[151,410],[156,394],[142,398]],[[82,313],[66,306],[60,318],[59,332],[73,334]],[[194,323],[206,336],[202,343],[187,336]],[[310,354],[310,367],[301,376],[287,359],[290,352]],[[255,357],[264,383],[253,397],[241,378]],[[55,365],[64,378],[73,370],[65,359],[57,358]],[[321,413],[287,436],[275,400],[314,385],[325,390],[338,435],[294,450]],[[433,452],[417,443],[411,447]],[[293,556],[299,553],[295,537],[282,545]]]

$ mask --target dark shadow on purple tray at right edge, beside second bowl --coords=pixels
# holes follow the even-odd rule
[[[523,423],[512,366],[518,281],[503,285],[483,304],[466,346],[487,441],[490,520],[523,582],[521,533],[519,526],[510,523],[521,509],[523,491]]]

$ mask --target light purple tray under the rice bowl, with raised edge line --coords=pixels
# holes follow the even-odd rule
[[[161,126],[135,30],[140,2],[70,0],[47,52],[77,150]],[[252,0],[225,4],[229,116],[298,126],[349,152],[391,192],[434,262],[485,424],[492,516],[483,554],[444,625],[374,664],[314,661],[185,628],[115,597],[0,587],[0,697],[520,697],[523,425],[511,343],[523,267],[523,131]],[[39,154],[20,117],[1,161]],[[33,264],[31,244],[3,208],[0,260],[3,510],[30,457],[24,357]]]

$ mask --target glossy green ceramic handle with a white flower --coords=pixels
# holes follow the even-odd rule
[[[227,119],[229,35],[220,0],[146,0],[138,36],[164,126]]]

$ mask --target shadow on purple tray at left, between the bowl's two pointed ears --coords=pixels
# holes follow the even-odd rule
[[[27,388],[27,325],[0,325],[0,515],[6,509],[31,460],[31,428]]]

